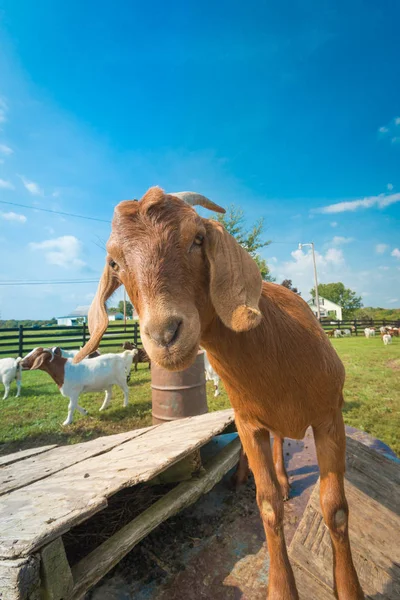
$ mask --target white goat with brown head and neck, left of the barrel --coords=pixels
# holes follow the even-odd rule
[[[110,403],[112,386],[118,385],[124,392],[124,406],[128,406],[129,388],[126,377],[137,350],[125,350],[121,354],[102,354],[75,365],[72,359],[55,354],[50,348],[35,348],[21,361],[23,369],[41,369],[56,382],[63,396],[69,398],[68,417],[63,425],[72,423],[74,410],[86,415],[79,406],[78,398],[83,392],[100,392],[106,395],[100,410]]]

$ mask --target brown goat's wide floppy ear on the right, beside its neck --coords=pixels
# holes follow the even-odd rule
[[[221,321],[248,331],[261,321],[262,279],[257,264],[216,221],[206,221],[205,251],[210,263],[210,294]]]

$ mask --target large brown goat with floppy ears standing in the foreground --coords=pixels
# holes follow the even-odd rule
[[[256,481],[270,554],[270,600],[297,600],[298,593],[269,432],[301,439],[311,425],[335,594],[360,600],[343,484],[343,365],[304,300],[281,285],[262,283],[256,263],[236,240],[184,200],[223,212],[198,194],[167,195],[159,188],[116,207],[89,312],[91,339],[74,360],[98,347],[108,326],[106,300],[121,284],[139,314],[151,360],[180,370],[192,364],[200,344],[206,349],[235,410]]]

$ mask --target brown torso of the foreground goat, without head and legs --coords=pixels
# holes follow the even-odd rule
[[[235,411],[285,437],[302,437],[342,404],[344,367],[308,304],[264,283],[256,328],[234,333],[218,319],[202,338]]]

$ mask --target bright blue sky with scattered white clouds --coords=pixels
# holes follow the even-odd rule
[[[322,282],[398,307],[399,20],[396,0],[0,0],[0,200],[108,221],[151,185],[193,189],[263,216],[303,297],[314,241]],[[96,280],[108,234],[0,204],[0,282]],[[1,318],[95,289],[0,285]]]

